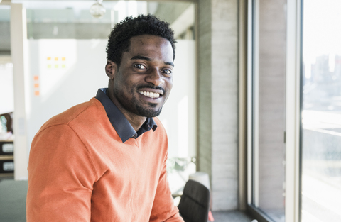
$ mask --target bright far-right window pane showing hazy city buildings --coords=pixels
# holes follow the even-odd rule
[[[341,1],[303,1],[302,221],[341,221]]]

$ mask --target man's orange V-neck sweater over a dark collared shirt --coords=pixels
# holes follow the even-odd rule
[[[183,221],[155,121],[156,131],[122,143],[97,99],[51,118],[32,142],[27,221]]]

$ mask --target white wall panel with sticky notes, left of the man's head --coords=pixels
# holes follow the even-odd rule
[[[45,121],[107,87],[106,44],[106,40],[28,40],[28,148]]]

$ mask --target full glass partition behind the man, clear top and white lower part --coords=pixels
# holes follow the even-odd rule
[[[187,181],[188,174],[195,172],[195,4],[102,1],[105,13],[102,18],[94,18],[90,7],[96,1],[20,2],[26,9],[27,21],[28,149],[45,121],[75,104],[88,101],[98,88],[107,87],[105,48],[110,30],[117,22],[126,16],[151,13],[170,23],[178,40],[173,89],[158,118],[168,132],[168,171],[172,192],[177,192]],[[2,17],[1,13],[0,19]],[[26,167],[23,166],[23,170]]]

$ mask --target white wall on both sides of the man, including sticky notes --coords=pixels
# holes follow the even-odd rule
[[[28,40],[28,149],[45,121],[107,87],[106,45],[107,40]],[[194,40],[178,41],[173,90],[160,116],[168,131],[170,157],[195,155],[194,53]]]

